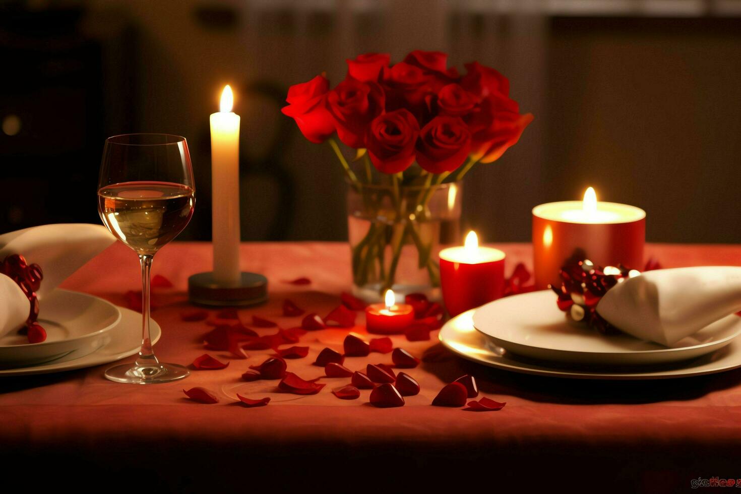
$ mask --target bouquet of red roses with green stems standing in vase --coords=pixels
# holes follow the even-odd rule
[[[331,90],[323,75],[288,90],[283,113],[309,141],[328,141],[352,187],[356,287],[380,293],[398,284],[405,245],[416,249],[417,269],[436,287],[432,254],[450,216],[436,210],[453,208],[456,183],[474,164],[502,156],[533,119],[519,113],[505,76],[477,62],[461,76],[447,59],[416,50],[391,65],[388,54],[367,53],[348,60],[348,75]],[[335,133],[356,150],[353,164]]]

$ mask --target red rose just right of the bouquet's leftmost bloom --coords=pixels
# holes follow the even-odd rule
[[[365,147],[365,130],[384,112],[385,96],[375,82],[345,79],[328,93],[327,104],[339,140],[350,147]]]

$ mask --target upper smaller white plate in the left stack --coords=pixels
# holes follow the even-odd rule
[[[69,290],[53,290],[39,304],[39,324],[47,338],[29,343],[15,331],[0,338],[0,368],[27,367],[73,360],[110,341],[121,319],[119,308],[102,298]]]

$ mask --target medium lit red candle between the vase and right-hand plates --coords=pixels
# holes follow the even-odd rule
[[[505,253],[468,232],[463,247],[440,251],[440,284],[451,317],[496,300],[505,290]]]

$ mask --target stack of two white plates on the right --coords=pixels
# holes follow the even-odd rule
[[[439,339],[492,367],[566,378],[647,379],[741,367],[741,317],[732,315],[672,347],[570,323],[551,290],[501,298],[452,318]]]

